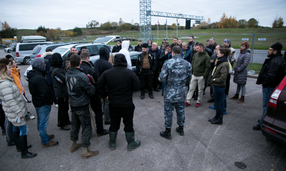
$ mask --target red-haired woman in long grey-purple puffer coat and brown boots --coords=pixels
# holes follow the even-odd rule
[[[244,96],[246,92],[246,80],[247,80],[247,66],[250,60],[250,48],[248,42],[242,42],[239,57],[236,60],[234,67],[234,79],[233,82],[237,84],[236,93],[229,99],[239,99],[237,103],[244,102]],[[239,93],[241,90],[241,97]]]

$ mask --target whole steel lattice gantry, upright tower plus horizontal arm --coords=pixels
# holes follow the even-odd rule
[[[140,40],[145,43],[151,39],[151,16],[193,19],[196,21],[205,20],[202,16],[151,11],[151,0],[140,0]]]

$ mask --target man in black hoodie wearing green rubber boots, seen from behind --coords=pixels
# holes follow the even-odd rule
[[[104,71],[97,82],[97,88],[103,98],[109,99],[110,119],[109,146],[111,150],[116,149],[117,131],[120,128],[121,118],[123,118],[127,150],[140,146],[140,140],[135,142],[133,129],[133,115],[135,106],[132,101],[133,91],[140,88],[137,75],[127,69],[127,61],[123,54],[114,56],[114,68]],[[108,86],[108,92],[105,86]]]

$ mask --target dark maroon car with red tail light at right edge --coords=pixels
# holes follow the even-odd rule
[[[272,92],[262,118],[262,134],[286,144],[286,76]]]

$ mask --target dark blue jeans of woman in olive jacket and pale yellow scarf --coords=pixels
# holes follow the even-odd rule
[[[216,117],[223,118],[224,111],[224,90],[226,86],[213,85],[213,94],[216,101]]]

